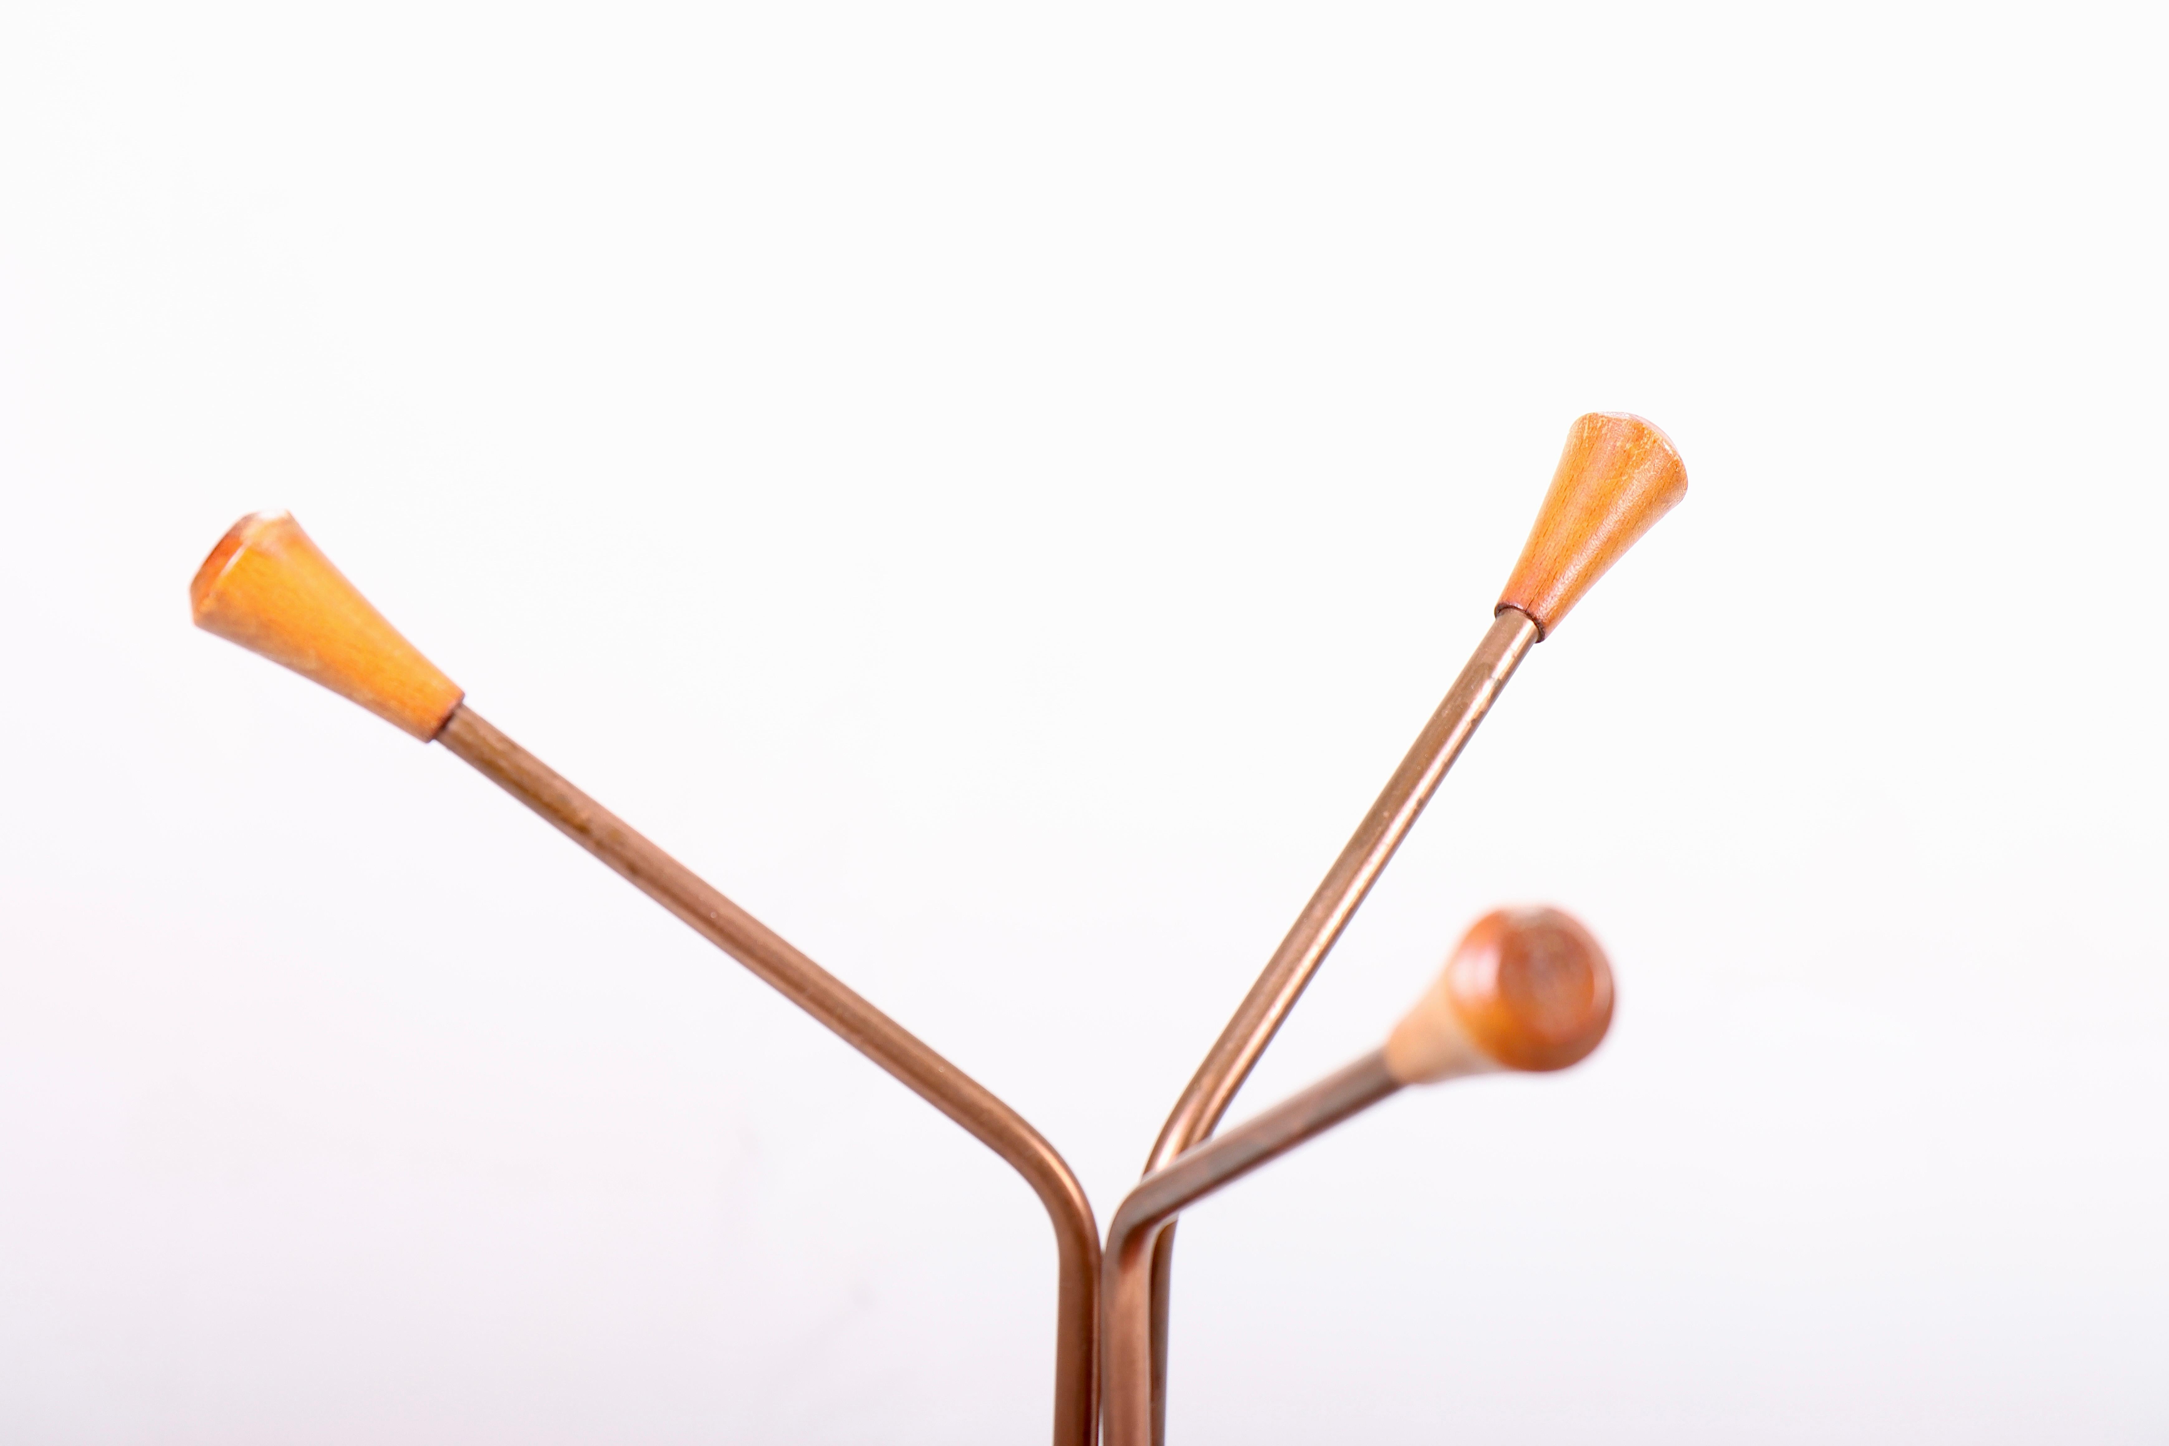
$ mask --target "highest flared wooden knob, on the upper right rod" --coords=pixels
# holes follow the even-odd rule
[[[1538,637],[1549,637],[1605,568],[1685,494],[1687,468],[1657,427],[1627,412],[1577,418],[1497,611],[1518,607]]]

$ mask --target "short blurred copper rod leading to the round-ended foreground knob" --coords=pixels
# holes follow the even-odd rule
[[[1100,1257],[1102,1446],[1150,1446],[1165,1429],[1152,1392],[1152,1281],[1176,1214],[1401,1088],[1373,1049],[1265,1114],[1145,1175],[1115,1210]]]

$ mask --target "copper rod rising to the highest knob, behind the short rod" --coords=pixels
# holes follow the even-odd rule
[[[1334,858],[1334,867],[1327,869],[1304,913],[1297,915],[1295,928],[1280,941],[1258,982],[1249,986],[1228,1028],[1221,1030],[1204,1064],[1182,1090],[1152,1147],[1152,1160],[1145,1164],[1147,1177],[1184,1155],[1219,1125],[1236,1090],[1243,1088],[1243,1080],[1258,1064],[1258,1056],[1265,1054],[1288,1010],[1301,999],[1310,976],[1325,963],[1325,954],[1340,939],[1356,908],[1371,893],[1371,885],[1377,882],[1379,872],[1416,824],[1423,804],[1438,791],[1447,770],[1453,767],[1462,748],[1468,746],[1468,737],[1484,722],[1484,713],[1499,698],[1499,689],[1514,676],[1514,668],[1540,637],[1542,633],[1527,614],[1516,607],[1499,607],[1468,666],[1447,689],[1408,757],[1401,759],[1401,767],[1386,780],[1386,789],[1371,804],[1340,856]],[[1167,1420],[1167,1307],[1173,1281],[1173,1227],[1156,1231],[1152,1251],[1152,1439],[1158,1442]]]

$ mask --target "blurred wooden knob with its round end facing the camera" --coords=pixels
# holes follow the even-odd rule
[[[1612,965],[1590,930],[1557,908],[1499,908],[1395,1025],[1386,1069],[1401,1084],[1566,1069],[1609,1028]]]

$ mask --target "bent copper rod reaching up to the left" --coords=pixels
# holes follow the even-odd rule
[[[1098,1422],[1093,1296],[1100,1229],[1084,1188],[1054,1147],[985,1086],[705,885],[692,869],[633,832],[625,819],[560,778],[473,709],[455,707],[436,741],[555,824],[785,999],[842,1034],[859,1054],[902,1080],[1030,1182],[1054,1223],[1061,1270],[1054,1307],[1054,1446],[1093,1446]]]

